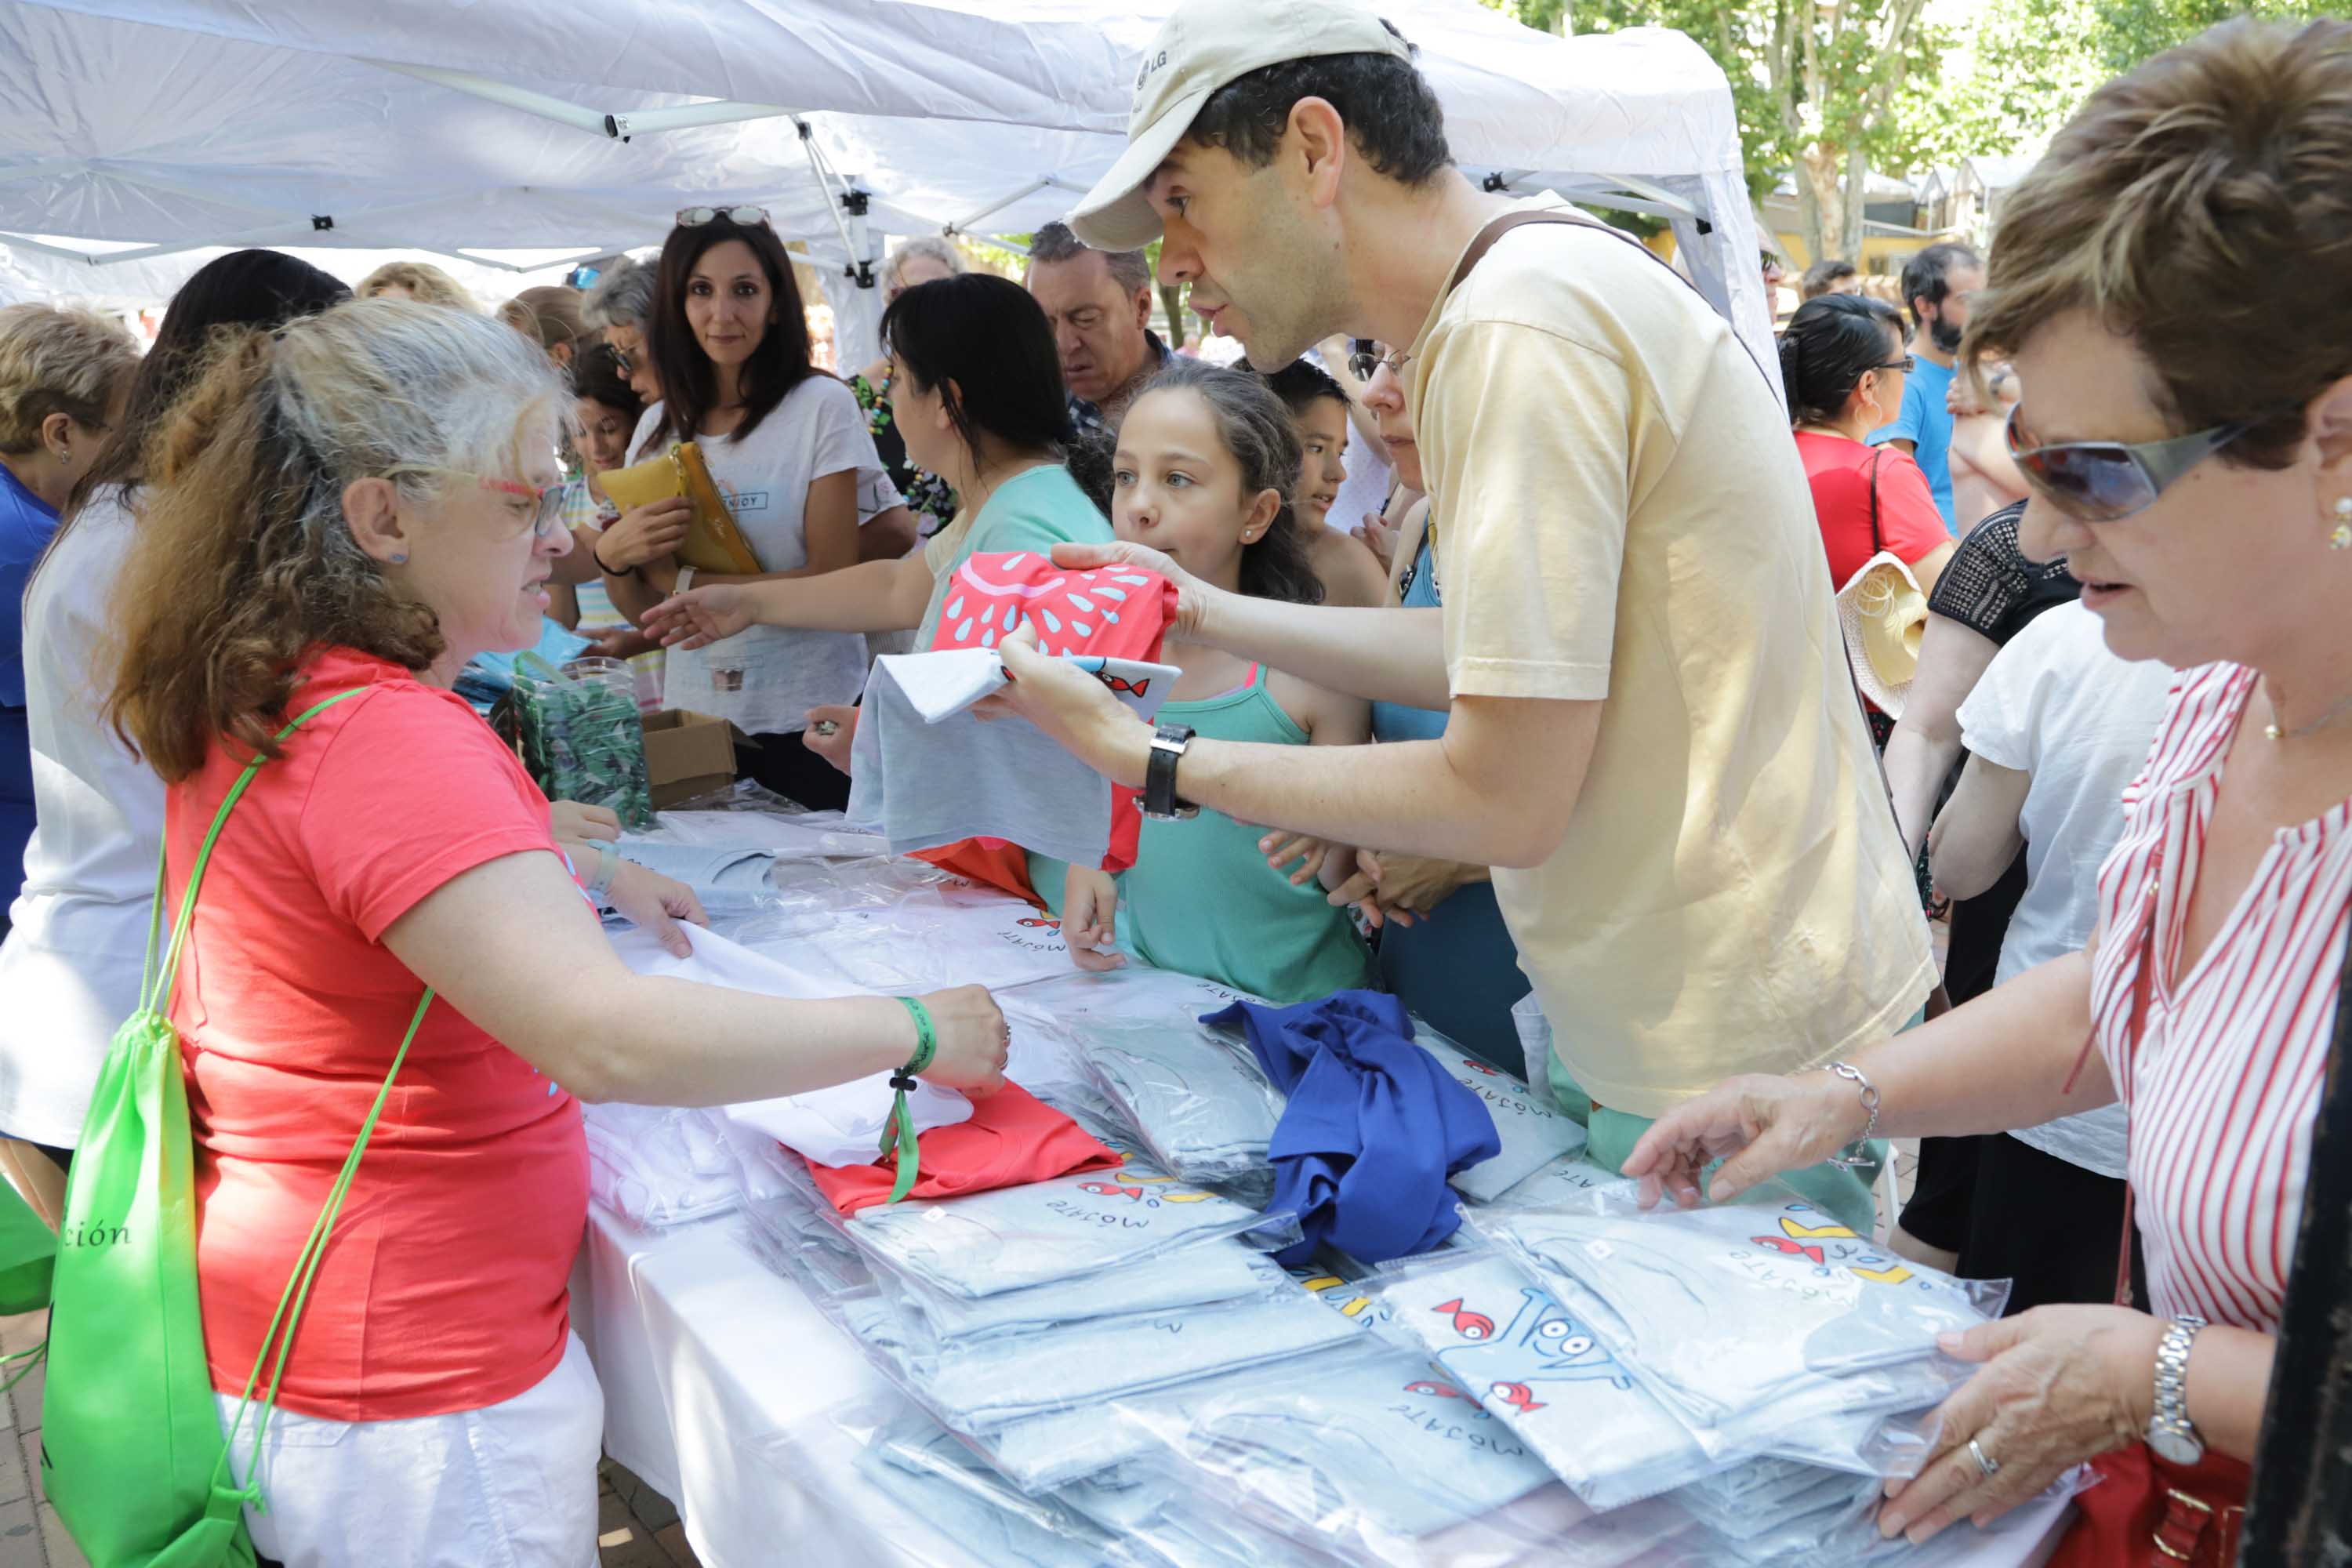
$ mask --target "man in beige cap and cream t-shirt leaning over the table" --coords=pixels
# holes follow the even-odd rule
[[[1183,639],[1442,708],[1446,731],[1188,743],[1018,639],[1002,701],[1145,809],[1494,865],[1616,1164],[1726,1074],[1823,1067],[1903,1027],[1936,969],[1773,390],[1628,237],[1494,228],[1550,209],[1454,167],[1437,96],[1371,9],[1185,0],[1143,54],[1127,155],[1070,226],[1105,249],[1164,235],[1162,282],[1261,369],[1334,331],[1390,350],[1442,609],[1244,599],[1134,545],[1056,557],[1169,571]],[[1863,1171],[1806,1173],[1856,1229]]]

